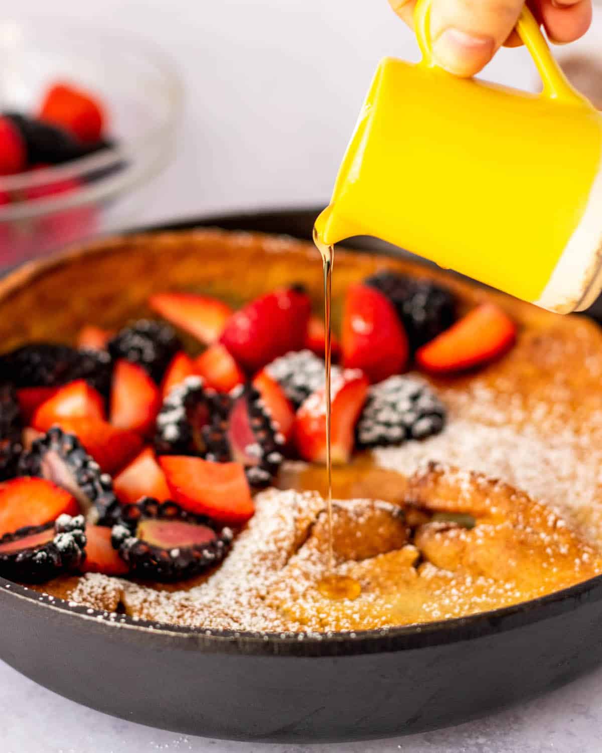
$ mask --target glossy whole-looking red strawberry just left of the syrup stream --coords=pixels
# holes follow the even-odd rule
[[[233,314],[220,342],[254,373],[278,355],[303,348],[310,308],[309,295],[300,288],[268,293]]]

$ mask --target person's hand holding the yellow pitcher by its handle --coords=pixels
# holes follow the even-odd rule
[[[473,76],[499,47],[521,44],[514,31],[523,0],[432,0],[430,30],[433,56],[458,76]],[[413,28],[416,0],[389,0]],[[591,23],[591,0],[534,0],[531,10],[557,44],[579,39]]]

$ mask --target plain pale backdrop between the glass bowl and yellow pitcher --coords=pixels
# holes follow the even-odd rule
[[[418,56],[387,0],[11,5],[17,17],[36,11],[152,39],[180,69],[177,155],[144,219],[326,200],[377,62]],[[491,69],[516,86],[537,81],[523,50],[504,50]]]

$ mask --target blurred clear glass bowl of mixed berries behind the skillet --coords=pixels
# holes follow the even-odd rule
[[[169,161],[181,105],[153,44],[0,20],[0,269],[129,224]]]

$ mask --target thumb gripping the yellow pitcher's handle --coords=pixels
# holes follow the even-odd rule
[[[433,0],[430,34],[439,66],[472,76],[508,38],[524,0]]]

